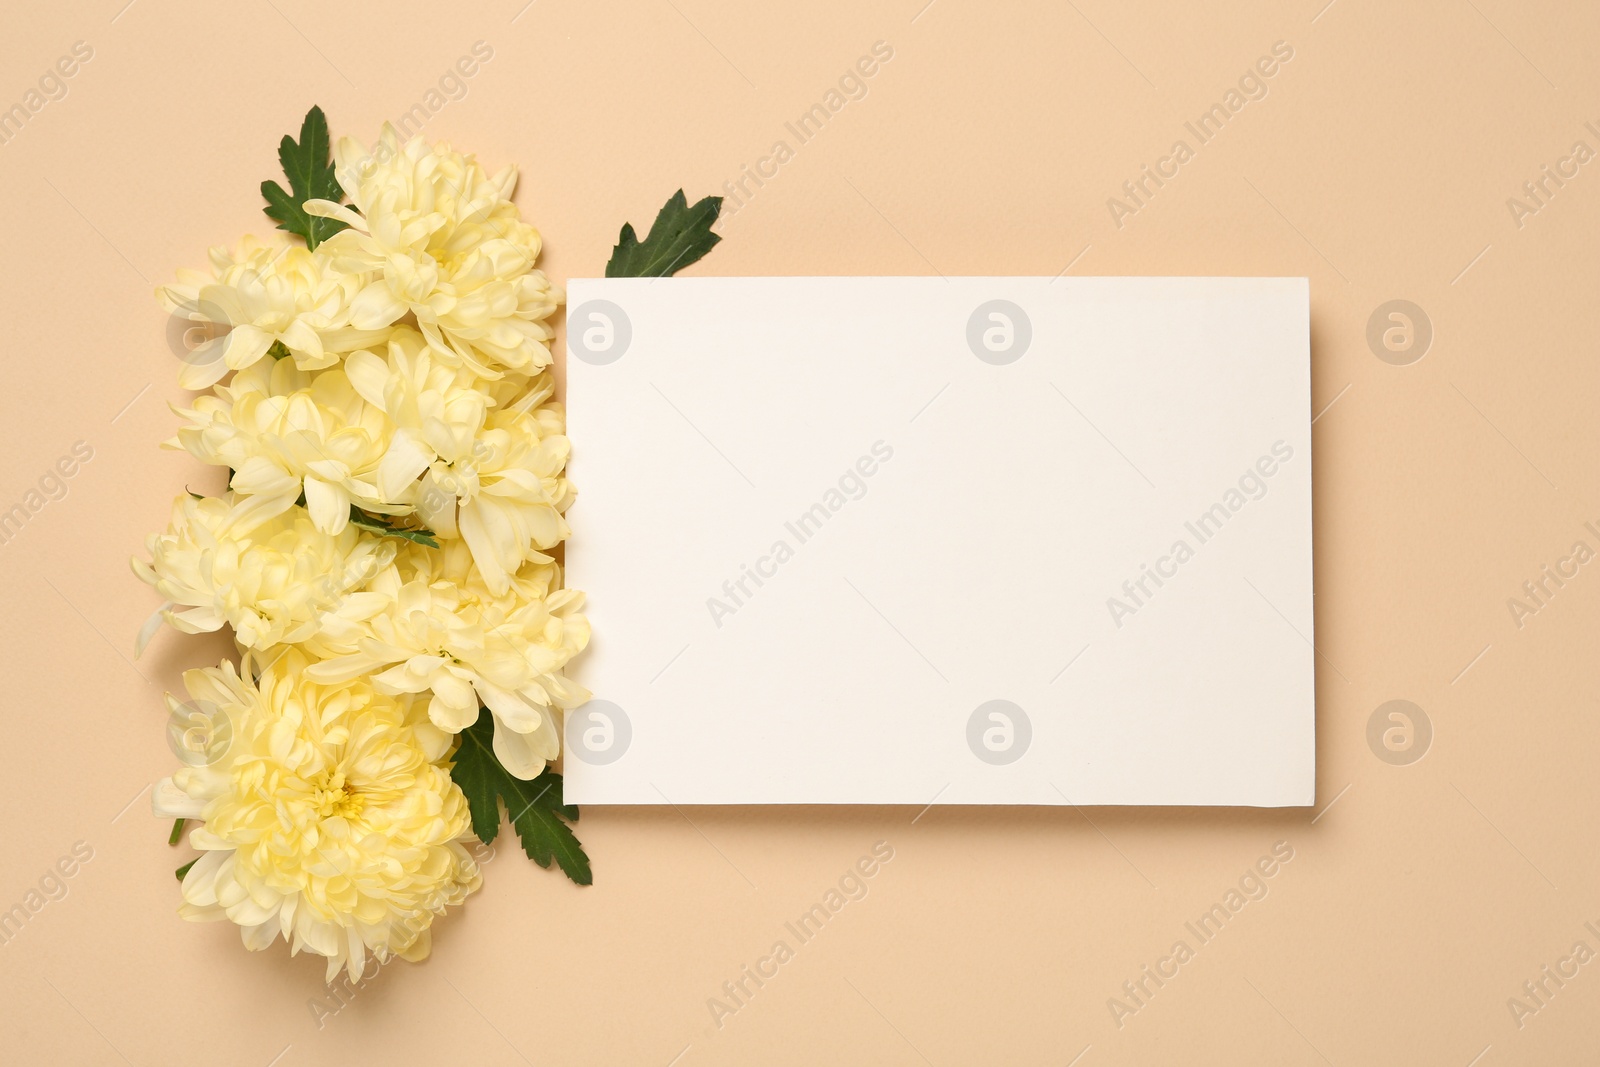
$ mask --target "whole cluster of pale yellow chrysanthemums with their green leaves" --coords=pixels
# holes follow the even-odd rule
[[[563,294],[510,202],[515,168],[392,126],[331,147],[320,109],[262,182],[286,235],[211,251],[157,296],[200,341],[200,395],[168,442],[227,467],[186,493],[134,571],[186,633],[227,627],[238,664],[168,696],[182,766],[155,785],[181,913],[280,934],[328,960],[418,960],[435,915],[480,885],[467,843],[501,805],[528,856],[581,885],[576,808],[550,769],[565,677],[589,641],[550,555],[568,536],[565,414],[550,320]],[[672,274],[717,235],[720,202],[667,202],[608,275]],[[670,259],[669,259],[670,254]]]

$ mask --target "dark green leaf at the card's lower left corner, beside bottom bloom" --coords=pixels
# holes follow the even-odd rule
[[[504,801],[528,859],[541,867],[549,867],[550,859],[555,859],[578,885],[594,883],[589,857],[566,825],[578,821],[578,808],[562,803],[562,776],[546,771],[531,782],[512,777],[494,757],[494,717],[488,709],[480,710],[478,721],[461,731],[454,758],[450,776],[466,793],[472,832],[485,845],[499,837]]]

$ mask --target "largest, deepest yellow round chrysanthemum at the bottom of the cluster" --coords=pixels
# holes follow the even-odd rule
[[[245,947],[282,934],[328,958],[326,981],[421,960],[435,915],[480,885],[466,797],[445,768],[450,739],[408,701],[365,681],[322,686],[290,651],[251,681],[232,664],[190,670],[194,701],[226,715],[216,761],[157,784],[157,816],[203,819],[184,875],[184,918],[229,920]]]

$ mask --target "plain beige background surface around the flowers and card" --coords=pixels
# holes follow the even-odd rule
[[[13,10],[0,102],[74,42],[94,56],[0,146],[0,510],[75,442],[94,456],[0,545],[0,907],[75,841],[93,859],[0,947],[0,1059],[1589,1062],[1600,963],[1522,1027],[1507,998],[1573,942],[1600,950],[1600,576],[1522,629],[1507,598],[1600,547],[1600,163],[1520,227],[1506,200],[1574,141],[1600,149],[1600,11],[1323,2]],[[168,633],[130,662],[155,600],[126,558],[218,480],[157,451],[179,392],[150,291],[266,232],[256,186],[309,104],[370,138],[477,40],[493,59],[426,134],[522,165],[557,280],[778,139],[794,158],[694,272],[1309,275],[1317,808],[589,809],[594,888],[502,849],[429,963],[322,1025],[318,961],[179,921],[189,853],[142,790],[173,765],[162,691],[221,645]],[[866,99],[797,146],[784,122],[878,40],[894,58]],[[1107,197],[1278,40],[1267,98],[1118,229]],[[1365,338],[1398,298],[1435,330],[1410,366]],[[1434,725],[1408,766],[1366,742],[1390,699]],[[715,1027],[707,998],[880,840],[866,899]],[[1280,840],[1270,894],[1118,1029],[1107,998]]]

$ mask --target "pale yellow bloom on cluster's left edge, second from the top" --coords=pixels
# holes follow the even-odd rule
[[[317,528],[339,533],[352,504],[382,515],[413,507],[379,493],[390,422],[355,392],[342,366],[307,373],[291,360],[264,360],[218,386],[216,395],[174,411],[189,426],[168,446],[230,467],[230,486],[264,498],[266,515],[288,510],[304,493]]]

